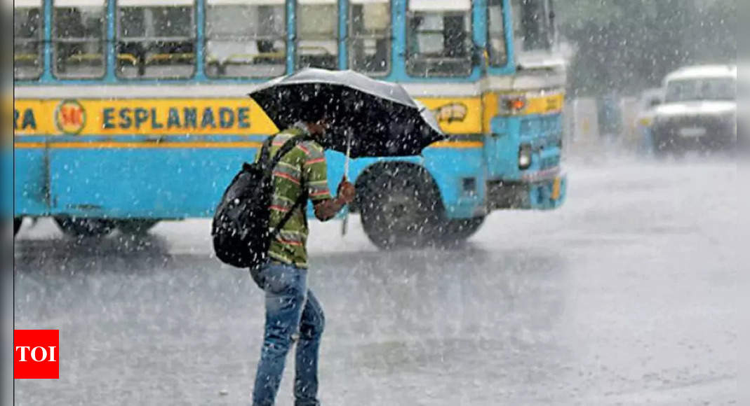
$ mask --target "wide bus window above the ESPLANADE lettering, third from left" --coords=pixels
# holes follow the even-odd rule
[[[193,0],[118,0],[117,76],[192,76],[196,32],[193,10]]]

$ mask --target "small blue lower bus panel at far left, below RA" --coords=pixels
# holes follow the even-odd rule
[[[49,213],[49,178],[47,176],[47,150],[15,148],[13,215],[46,215]],[[5,156],[5,154],[3,154]]]

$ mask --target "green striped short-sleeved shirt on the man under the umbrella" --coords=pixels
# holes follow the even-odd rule
[[[286,141],[307,134],[307,126],[302,123],[278,133],[271,147],[271,157]],[[260,153],[257,155],[260,156]],[[275,190],[271,203],[272,230],[281,223],[281,219],[292,209],[294,202],[305,191],[305,188],[314,204],[332,198],[327,172],[323,147],[315,141],[305,141],[299,144],[281,159],[274,168]],[[272,259],[293,264],[299,268],[308,267],[306,212],[307,205],[296,209],[276,239],[271,242],[269,256]]]

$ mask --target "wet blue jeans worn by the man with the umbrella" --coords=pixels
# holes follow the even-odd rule
[[[295,405],[320,405],[317,400],[318,353],[326,319],[323,308],[308,289],[308,271],[267,262],[251,270],[251,275],[266,292],[266,333],[255,375],[253,405],[274,405],[284,361],[295,340]]]

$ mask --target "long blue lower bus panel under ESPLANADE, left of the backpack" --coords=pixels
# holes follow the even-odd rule
[[[211,217],[255,150],[103,148],[54,150],[56,212],[111,218]]]

